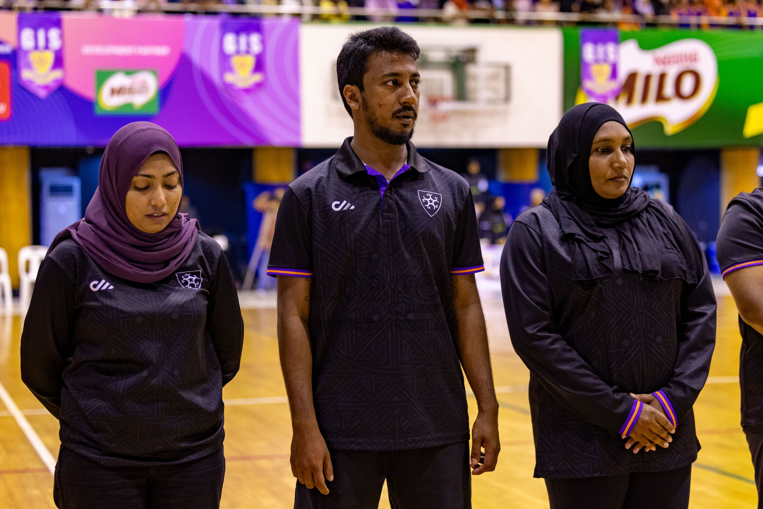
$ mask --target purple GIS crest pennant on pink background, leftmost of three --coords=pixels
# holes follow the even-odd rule
[[[63,33],[57,12],[18,14],[17,66],[21,86],[47,98],[63,84]]]

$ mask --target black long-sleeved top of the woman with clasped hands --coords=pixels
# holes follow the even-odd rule
[[[642,279],[623,270],[612,232],[604,233],[613,273],[587,283],[572,280],[570,250],[548,209],[526,211],[509,230],[501,286],[511,341],[530,368],[536,477],[678,469],[699,449],[692,405],[716,325],[707,266],[697,285]],[[658,389],[674,405],[678,430],[668,449],[633,454],[617,433],[633,404],[628,393]]]

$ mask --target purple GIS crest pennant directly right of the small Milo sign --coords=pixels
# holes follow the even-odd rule
[[[265,81],[262,22],[257,18],[226,18],[220,31],[220,73],[226,88],[233,92],[259,88]]]

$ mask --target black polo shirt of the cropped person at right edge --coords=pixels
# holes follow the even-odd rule
[[[763,188],[740,193],[729,203],[717,238],[721,273],[763,265]],[[763,336],[739,317],[742,351],[739,385],[742,388],[742,426],[763,433]]]

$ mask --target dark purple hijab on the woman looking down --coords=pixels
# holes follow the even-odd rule
[[[133,122],[118,130],[101,158],[98,188],[85,219],[56,235],[48,253],[72,237],[101,269],[122,279],[155,282],[179,269],[195,245],[198,221],[188,214],[175,214],[164,230],[146,234],[130,223],[125,210],[133,177],[157,152],[166,153],[175,163],[182,186],[180,150],[166,130],[151,122]]]

